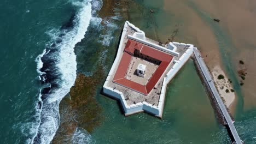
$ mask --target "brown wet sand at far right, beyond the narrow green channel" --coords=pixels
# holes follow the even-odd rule
[[[245,85],[241,87],[245,110],[256,107],[256,1],[210,1],[196,0],[200,8],[220,19],[219,25],[230,35],[234,47],[229,55],[236,70],[240,70],[238,61],[242,59],[247,69]],[[237,75],[240,81],[240,77]]]

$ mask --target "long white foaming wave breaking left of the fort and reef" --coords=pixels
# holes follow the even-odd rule
[[[46,45],[43,53],[36,58],[43,88],[36,107],[39,122],[32,127],[36,134],[28,143],[50,143],[53,140],[60,124],[60,101],[70,91],[77,76],[74,47],[84,39],[92,18],[92,8],[96,6],[90,0],[72,1],[72,4],[78,7],[78,12],[60,30],[48,32],[53,43]]]

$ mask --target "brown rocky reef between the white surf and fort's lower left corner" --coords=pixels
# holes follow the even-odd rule
[[[102,76],[101,69],[92,76],[78,74],[75,85],[60,103],[61,123],[53,143],[71,143],[77,128],[90,133],[100,124],[103,117],[95,95]]]

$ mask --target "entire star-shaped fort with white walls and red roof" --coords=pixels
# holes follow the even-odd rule
[[[161,118],[167,84],[193,49],[193,45],[184,43],[162,45],[126,21],[103,93],[120,101],[125,116],[144,111]],[[138,64],[146,65],[144,77],[136,75]]]

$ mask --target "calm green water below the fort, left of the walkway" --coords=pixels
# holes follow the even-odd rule
[[[193,61],[168,85],[163,119],[147,113],[124,117],[117,102],[98,98],[104,109],[103,124],[91,133],[96,143],[229,143],[218,124]]]

